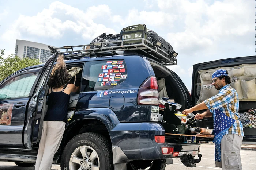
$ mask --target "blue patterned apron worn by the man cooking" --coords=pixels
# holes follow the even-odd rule
[[[215,137],[212,142],[215,143],[215,161],[221,162],[221,140],[236,120],[225,115],[219,109],[215,109],[215,112],[213,113],[213,120]]]

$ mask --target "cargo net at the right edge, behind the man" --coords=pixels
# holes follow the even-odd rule
[[[244,128],[256,128],[256,109],[251,109],[240,116]]]

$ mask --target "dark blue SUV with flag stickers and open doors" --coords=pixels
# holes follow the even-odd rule
[[[51,49],[55,54],[44,65],[19,70],[0,84],[0,161],[35,163],[47,111],[46,84],[59,54]],[[164,170],[172,158],[181,158],[195,167],[200,144],[187,142],[182,133],[166,134],[166,115],[159,110],[159,97],[175,100],[180,110],[191,103],[180,78],[163,65],[177,60],[163,62],[134,49],[88,51],[89,56],[81,51],[65,56],[68,70],[80,69],[71,80],[80,93],[71,94],[74,114],[53,163],[62,170]]]

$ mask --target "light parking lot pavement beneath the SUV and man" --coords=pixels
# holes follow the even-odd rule
[[[202,143],[200,153],[202,154],[201,162],[197,163],[197,167],[185,167],[179,158],[173,159],[172,165],[166,165],[165,170],[207,170],[220,169],[215,167],[214,161],[214,144]],[[242,168],[245,170],[255,170],[256,167],[256,151],[241,150]],[[14,162],[0,162],[0,170],[34,170],[34,167],[19,167]],[[52,165],[52,170],[60,170],[60,165]],[[221,169],[220,169],[221,170]]]

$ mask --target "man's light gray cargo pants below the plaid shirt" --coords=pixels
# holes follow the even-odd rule
[[[216,167],[223,170],[241,170],[242,163],[240,150],[243,136],[237,134],[226,134],[221,140],[221,162],[215,161]]]

